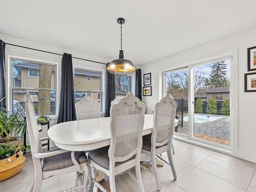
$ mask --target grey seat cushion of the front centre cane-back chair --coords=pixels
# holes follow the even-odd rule
[[[92,150],[92,151],[89,152],[88,157],[94,163],[96,163],[99,166],[109,170],[109,168],[110,168],[109,148],[110,148],[110,146],[104,146],[104,147],[101,147],[101,148],[97,148],[96,150]],[[128,159],[126,161],[116,162],[115,166],[123,164],[127,161],[130,161],[130,160],[134,159],[134,158],[135,158],[135,156],[131,157],[130,159]]]

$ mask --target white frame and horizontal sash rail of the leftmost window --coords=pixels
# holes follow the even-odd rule
[[[42,89],[42,88],[24,88],[24,87],[14,87],[14,80],[13,80],[13,60],[20,60],[20,61],[27,61],[27,62],[33,62],[38,65],[46,65],[51,66],[55,68],[55,75],[54,75],[54,89]],[[52,62],[52,61],[43,61],[38,60],[34,58],[26,58],[26,57],[20,57],[20,56],[11,56],[8,55],[8,85],[9,87],[9,99],[8,100],[8,110],[12,112],[13,110],[13,90],[26,90],[26,91],[54,91],[55,92],[55,114],[48,114],[49,117],[56,117],[58,116],[58,62]],[[28,70],[29,71],[29,70]],[[29,73],[29,72],[28,72]],[[34,77],[34,76],[32,76]],[[39,70],[38,70],[38,78],[39,78]]]

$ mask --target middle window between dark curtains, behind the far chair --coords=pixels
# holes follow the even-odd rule
[[[102,111],[101,72],[75,69],[74,73],[75,102],[88,96],[100,103]]]

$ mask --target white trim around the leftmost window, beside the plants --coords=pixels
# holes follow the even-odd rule
[[[27,54],[10,54],[12,52],[6,52],[6,60],[8,62],[8,67],[7,67],[7,86],[8,86],[8,91],[7,91],[7,110],[8,111],[12,111],[12,90],[13,89],[18,89],[18,88],[14,88],[13,87],[13,66],[12,66],[12,59],[17,59],[17,60],[26,60],[26,61],[30,61],[30,62],[37,62],[37,63],[41,63],[42,65],[48,65],[48,66],[54,66],[55,67],[55,89],[52,89],[55,91],[55,115],[47,115],[49,117],[51,117],[51,119],[57,119],[58,116],[58,106],[59,106],[59,100],[58,100],[58,62],[56,61],[51,61],[53,59],[49,60],[41,60],[38,59],[38,57],[36,56],[31,56],[31,55],[27,55]],[[22,55],[22,56],[20,56]],[[29,57],[28,57],[29,56]],[[28,88],[29,90],[32,90],[31,88]]]

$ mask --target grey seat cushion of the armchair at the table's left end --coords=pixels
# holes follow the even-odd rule
[[[85,152],[75,152],[75,159],[79,164],[87,162],[88,158]],[[42,160],[42,171],[56,170],[73,166],[71,152],[66,152],[51,157],[46,157]]]

